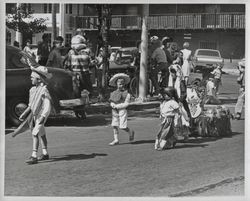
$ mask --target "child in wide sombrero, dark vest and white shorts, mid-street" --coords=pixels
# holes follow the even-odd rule
[[[134,140],[135,132],[127,126],[128,113],[127,107],[131,95],[125,90],[125,85],[130,82],[128,75],[124,73],[115,74],[109,81],[109,85],[117,89],[110,94],[110,106],[112,107],[112,123],[114,140],[109,143],[110,146],[119,144],[119,128],[129,134],[129,141]]]

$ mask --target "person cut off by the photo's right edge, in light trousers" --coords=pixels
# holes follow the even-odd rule
[[[235,105],[235,119],[240,120],[245,102],[245,59],[239,62],[238,69],[240,71],[240,76],[238,77],[237,82],[240,84],[240,90]]]

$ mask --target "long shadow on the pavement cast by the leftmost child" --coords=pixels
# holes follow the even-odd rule
[[[71,160],[86,160],[95,158],[96,156],[107,156],[107,154],[102,153],[92,153],[92,154],[68,154],[63,156],[50,157],[49,160],[41,162],[56,162],[56,161],[71,161]]]

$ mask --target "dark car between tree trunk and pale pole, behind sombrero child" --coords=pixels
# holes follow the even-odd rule
[[[109,76],[134,71],[136,67],[133,66],[133,62],[137,52],[136,47],[124,47],[116,50],[114,59],[109,61]]]

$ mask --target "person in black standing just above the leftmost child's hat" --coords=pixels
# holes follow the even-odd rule
[[[45,66],[50,53],[48,34],[43,34],[42,39],[43,41],[38,44],[37,56],[38,56],[38,63],[42,66]]]

